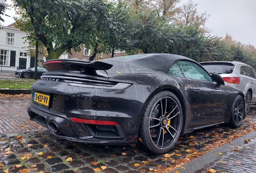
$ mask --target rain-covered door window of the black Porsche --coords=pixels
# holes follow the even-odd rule
[[[192,78],[196,80],[204,80],[212,82],[211,76],[198,64],[190,61],[178,61],[184,76],[186,78]]]

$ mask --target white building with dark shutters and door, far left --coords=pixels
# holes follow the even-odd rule
[[[35,66],[27,56],[26,33],[9,26],[0,26],[0,71],[15,71]],[[33,60],[32,60],[33,61]]]

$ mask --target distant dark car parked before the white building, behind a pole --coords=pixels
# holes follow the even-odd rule
[[[46,72],[46,69],[43,67],[37,67],[37,77],[40,77],[44,72]],[[30,69],[20,69],[16,70],[14,72],[15,76],[19,76],[22,78],[30,78],[35,76],[35,67]]]

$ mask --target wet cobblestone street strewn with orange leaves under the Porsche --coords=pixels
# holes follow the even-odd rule
[[[167,173],[182,170],[190,161],[254,131],[256,126],[256,109],[252,109],[237,129],[219,125],[194,131],[181,137],[168,155],[153,155],[138,145],[87,145],[55,137],[29,120],[26,109],[30,99],[0,97],[0,173]],[[239,146],[234,147],[240,152]],[[250,162],[256,165],[255,160]]]

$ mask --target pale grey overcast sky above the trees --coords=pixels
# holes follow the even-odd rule
[[[7,0],[10,2],[10,0]],[[180,5],[188,2],[181,0]],[[228,33],[233,40],[256,47],[256,0],[193,0],[197,3],[198,13],[206,11],[210,14],[206,27],[211,29],[211,36],[225,37]],[[6,14],[14,16],[13,10]],[[3,16],[4,26],[14,20]]]

